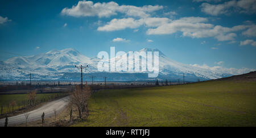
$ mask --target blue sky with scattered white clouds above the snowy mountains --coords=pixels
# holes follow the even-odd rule
[[[256,69],[255,7],[255,0],[3,0],[0,60],[52,49],[95,57],[110,46],[146,47],[195,66]]]

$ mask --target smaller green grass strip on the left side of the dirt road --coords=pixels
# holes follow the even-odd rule
[[[41,100],[49,101],[51,98],[55,98],[58,96],[58,93],[51,93],[51,94],[36,94],[36,103],[42,102]],[[59,96],[63,96],[63,94],[59,94]],[[19,109],[19,107],[23,107],[23,102],[27,102],[27,94],[6,94],[0,95],[0,110],[1,106],[3,106],[3,114],[9,113],[9,111],[13,110],[13,107],[10,106],[12,101],[16,102],[14,106],[14,110]],[[9,108],[8,108],[9,105]]]

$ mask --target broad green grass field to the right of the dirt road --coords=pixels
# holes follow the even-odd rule
[[[74,126],[256,126],[256,83],[206,81],[93,94]]]

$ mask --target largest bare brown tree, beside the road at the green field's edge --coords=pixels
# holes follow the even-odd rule
[[[79,118],[82,118],[82,114],[86,112],[86,117],[89,115],[88,110],[88,99],[90,97],[91,90],[88,85],[85,85],[85,87],[79,87],[77,86],[75,90],[71,93],[71,103],[72,105],[75,105],[79,111]]]

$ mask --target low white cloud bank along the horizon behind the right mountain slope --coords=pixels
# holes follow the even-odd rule
[[[255,69],[253,69],[253,68],[224,68],[221,66],[209,67],[207,64],[203,64],[203,65],[193,64],[191,66],[205,68],[207,70],[211,70],[214,72],[220,72],[222,74],[228,73],[228,74],[232,74],[232,75],[246,74],[248,72],[255,71]]]

